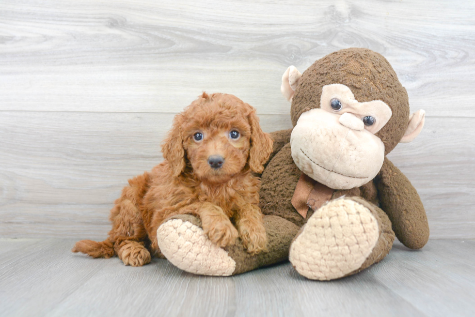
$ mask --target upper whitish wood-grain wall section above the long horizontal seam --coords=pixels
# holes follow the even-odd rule
[[[391,62],[415,110],[475,116],[473,1],[5,0],[0,10],[2,110],[177,112],[206,90],[288,114],[285,69],[356,46]]]

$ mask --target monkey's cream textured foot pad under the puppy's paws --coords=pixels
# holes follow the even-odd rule
[[[199,226],[171,219],[157,230],[160,251],[179,269],[201,275],[229,276],[236,262],[213,244]]]

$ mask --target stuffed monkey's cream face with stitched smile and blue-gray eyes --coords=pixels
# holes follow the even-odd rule
[[[384,144],[375,133],[391,115],[380,100],[360,103],[347,86],[326,85],[320,108],[301,114],[292,130],[292,158],[303,173],[330,188],[362,186],[381,169]]]

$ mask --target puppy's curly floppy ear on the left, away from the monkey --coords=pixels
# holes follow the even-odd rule
[[[185,169],[185,149],[183,148],[183,133],[181,125],[184,122],[184,116],[179,113],[173,119],[172,129],[163,140],[161,151],[163,158],[168,161],[173,170],[173,176],[180,175]]]

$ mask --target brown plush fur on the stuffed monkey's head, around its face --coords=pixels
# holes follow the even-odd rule
[[[359,102],[381,100],[391,108],[391,119],[376,136],[383,141],[385,154],[392,151],[408,126],[408,95],[391,64],[382,55],[366,48],[333,52],[303,72],[292,99],[293,125],[302,113],[319,108],[322,87],[335,83],[348,86]]]

